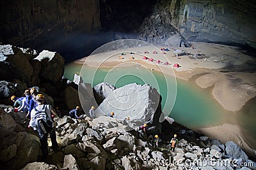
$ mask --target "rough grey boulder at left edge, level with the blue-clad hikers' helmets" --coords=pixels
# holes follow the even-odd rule
[[[0,81],[0,99],[9,98],[13,95],[22,96],[24,88],[18,83]]]

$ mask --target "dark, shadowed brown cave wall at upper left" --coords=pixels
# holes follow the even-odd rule
[[[0,41],[22,45],[38,36],[97,32],[100,29],[99,0],[1,1]]]

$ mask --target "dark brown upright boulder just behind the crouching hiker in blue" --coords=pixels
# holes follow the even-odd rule
[[[72,109],[76,108],[76,106],[81,107],[79,97],[78,97],[78,92],[76,89],[68,86],[64,90],[63,94],[64,94],[64,101],[65,101],[65,104],[66,104],[68,110],[72,110]]]

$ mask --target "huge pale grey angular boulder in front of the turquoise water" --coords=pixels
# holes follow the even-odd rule
[[[156,113],[160,95],[149,85],[132,83],[113,90],[95,110],[97,117],[108,115],[113,111],[115,118],[124,120],[130,117],[130,122],[142,125],[145,122],[159,123],[161,113]],[[155,114],[155,115],[154,115]]]

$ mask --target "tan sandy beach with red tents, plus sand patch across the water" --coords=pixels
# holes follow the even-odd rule
[[[161,46],[140,46],[96,53],[76,60],[75,63],[90,67],[114,67],[121,63],[128,66],[138,62],[140,66],[152,71],[176,76],[196,83],[203,89],[212,90],[212,97],[227,111],[241,110],[247,101],[256,96],[256,73],[250,71],[256,63],[253,57],[240,52],[235,46],[193,43],[193,47],[193,49],[169,48],[170,51],[166,52],[160,50]],[[152,53],[155,50],[157,54]],[[177,50],[182,50],[179,53],[186,53],[186,55],[177,57]],[[145,51],[148,53],[144,53]],[[121,55],[122,53],[124,55]],[[154,61],[145,60],[144,56]],[[157,63],[157,60],[161,62]],[[164,65],[164,62],[170,64]],[[180,67],[173,67],[175,64],[179,64]],[[200,129],[200,132],[210,138],[220,139],[222,142],[232,140],[243,146],[246,152],[255,154],[250,145],[243,140],[243,134],[239,128],[239,125],[223,124]],[[222,132],[227,132],[229,135],[223,135]]]

